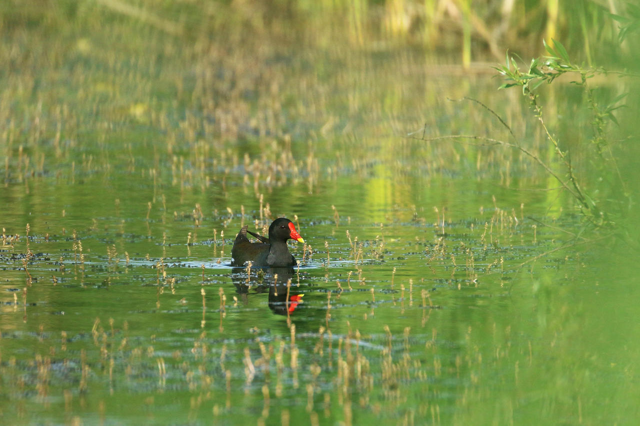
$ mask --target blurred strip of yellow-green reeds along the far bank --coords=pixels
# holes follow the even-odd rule
[[[599,0],[7,0],[0,5],[5,35],[13,31],[90,31],[137,22],[193,42],[226,37],[388,49],[423,47],[457,61],[495,61],[504,51],[523,58],[543,53],[541,40],[561,40],[587,65],[636,68],[637,6]],[[242,29],[239,31],[239,29]],[[621,33],[620,29],[623,29]]]

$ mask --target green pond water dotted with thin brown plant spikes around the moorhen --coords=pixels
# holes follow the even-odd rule
[[[517,150],[435,139],[511,137],[470,97],[554,164],[488,65],[138,31],[4,38],[1,423],[637,421],[632,248]],[[299,266],[232,269],[279,216]]]

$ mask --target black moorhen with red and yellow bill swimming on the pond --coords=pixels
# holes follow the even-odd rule
[[[260,242],[249,241],[246,237],[247,232]],[[305,242],[292,221],[285,217],[279,217],[271,223],[269,238],[247,231],[247,225],[244,225],[236,235],[234,247],[231,249],[231,266],[244,266],[246,262],[252,262],[253,267],[295,266],[296,258],[289,253],[287,247],[287,240],[290,238]]]

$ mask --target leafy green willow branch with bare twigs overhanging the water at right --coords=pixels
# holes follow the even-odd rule
[[[589,80],[596,75],[607,76],[609,74],[616,74],[622,77],[636,78],[639,76],[626,72],[613,72],[605,70],[604,68],[582,67],[573,63],[561,43],[556,40],[553,40],[553,43],[554,45],[550,46],[544,42],[548,56],[532,59],[528,68],[521,68],[520,65],[518,65],[518,61],[516,61],[514,56],[510,56],[509,53],[506,54],[505,65],[498,65],[493,68],[506,79],[506,83],[502,84],[499,87],[500,89],[511,87],[520,87],[522,89],[522,94],[529,100],[529,106],[540,124],[543,135],[548,139],[549,143],[552,144],[554,155],[543,157],[540,152],[525,146],[499,114],[483,104],[483,102],[469,97],[463,99],[476,102],[499,120],[500,124],[509,132],[508,140],[490,138],[488,136],[461,134],[429,138],[425,135],[426,127],[409,134],[408,137],[423,141],[466,139],[469,141],[469,145],[501,145],[515,148],[522,152],[522,154],[533,159],[550,176],[559,182],[559,188],[569,193],[576,201],[582,217],[586,219],[589,226],[592,228],[607,229],[616,223],[616,219],[624,213],[623,209],[627,208],[631,201],[631,194],[627,188],[628,185],[625,184],[625,180],[618,167],[616,154],[614,154],[612,150],[614,136],[612,136],[613,132],[611,130],[611,123],[618,124],[614,112],[625,106],[622,101],[625,99],[626,93],[615,96],[612,100],[609,100],[609,102],[598,102],[598,100],[596,100],[595,88],[591,87]],[[547,115],[545,115],[543,103],[541,102],[540,93],[538,93],[537,90],[541,84],[552,84],[558,77],[565,74],[577,75],[578,79],[575,79],[571,83],[581,88],[582,93],[584,93],[584,104],[586,104],[586,107],[591,111],[590,123],[592,131],[590,141],[588,144],[580,142],[580,145],[573,149],[582,150],[583,148],[592,149],[595,147],[597,155],[592,164],[598,173],[598,179],[596,180],[606,184],[607,189],[614,188],[617,193],[616,196],[600,194],[598,192],[598,185],[596,184],[592,185],[591,189],[589,189],[589,185],[584,184],[584,178],[580,177],[584,177],[588,175],[588,173],[586,173],[585,170],[579,170],[580,173],[577,173],[572,162],[572,150],[569,144],[561,143],[559,138],[555,136],[554,131],[550,129]],[[415,136],[420,131],[422,132],[422,136]],[[607,191],[603,191],[603,193],[606,192]],[[578,235],[574,235],[574,237],[578,237]]]

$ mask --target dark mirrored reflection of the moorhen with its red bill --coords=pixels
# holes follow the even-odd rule
[[[249,290],[255,293],[264,293],[269,290],[269,308],[278,315],[291,315],[298,305],[302,303],[302,296],[298,287],[290,285],[289,300],[287,301],[287,283],[291,282],[294,271],[291,267],[272,267],[252,269],[250,280],[247,281],[247,268],[234,268],[231,272],[231,280],[236,286],[236,291],[246,300]],[[255,275],[254,275],[255,274]],[[257,283],[260,281],[260,283]]]

